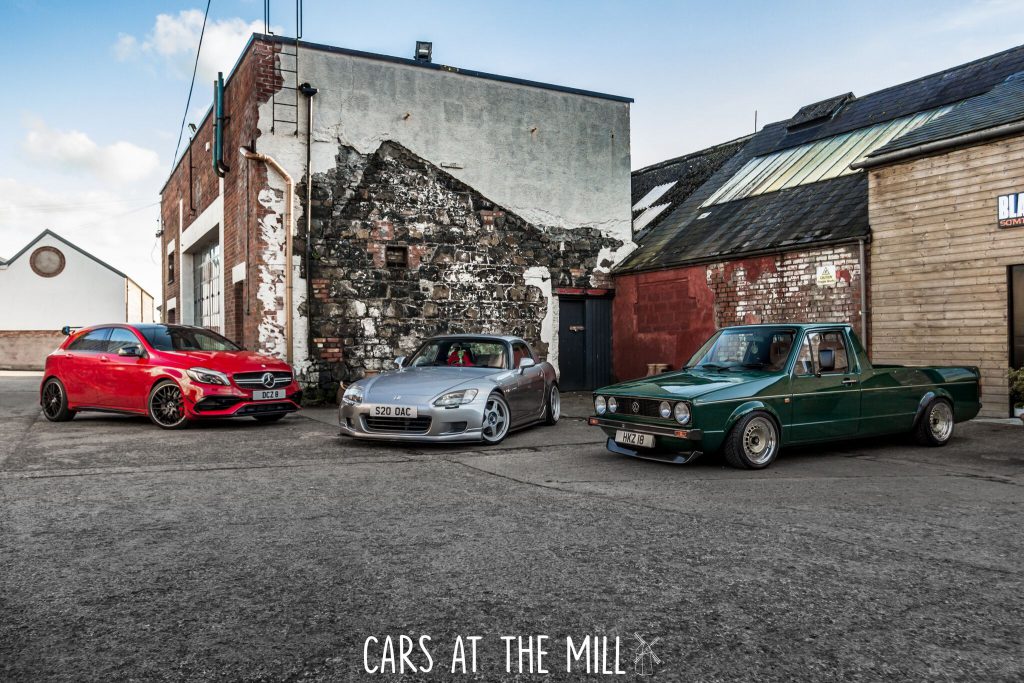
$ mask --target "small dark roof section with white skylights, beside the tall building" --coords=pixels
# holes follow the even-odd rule
[[[644,216],[648,210],[655,214],[654,218],[645,221],[643,225],[638,225],[634,240],[641,241],[645,234],[649,234],[658,222],[672,213],[674,207],[679,206],[697,187],[707,182],[708,178],[742,150],[750,139],[751,135],[745,135],[633,171],[634,221]],[[670,186],[664,194],[657,195],[651,202],[638,206],[651,190],[665,185]]]

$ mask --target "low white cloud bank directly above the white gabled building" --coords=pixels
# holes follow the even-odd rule
[[[126,272],[159,299],[158,201],[156,195],[127,196],[117,188],[44,188],[0,177],[0,256],[10,258],[48,228]]]

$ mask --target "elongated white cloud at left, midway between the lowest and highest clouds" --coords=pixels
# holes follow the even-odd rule
[[[106,182],[137,182],[153,175],[160,156],[153,150],[119,140],[97,144],[78,130],[55,130],[40,120],[29,121],[22,142],[28,157],[66,173],[88,173]]]

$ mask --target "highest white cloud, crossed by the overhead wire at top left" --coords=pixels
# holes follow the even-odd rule
[[[203,11],[184,9],[177,14],[158,14],[153,31],[144,40],[121,34],[114,44],[114,52],[121,60],[146,54],[163,60],[177,78],[191,78],[196,62],[196,48],[203,30]],[[209,19],[203,49],[200,52],[196,81],[212,83],[217,72],[230,71],[249,36],[262,33],[262,22],[246,22],[240,17]]]

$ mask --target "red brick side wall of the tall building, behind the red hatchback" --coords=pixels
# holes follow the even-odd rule
[[[280,87],[274,72],[273,46],[255,41],[244,55],[236,72],[224,86],[224,113],[229,117],[224,127],[224,162],[230,171],[224,177],[224,239],[221,254],[224,262],[224,287],[221,315],[226,337],[248,348],[257,343],[257,328],[262,310],[255,297],[253,275],[259,265],[259,220],[266,214],[257,201],[259,190],[266,186],[267,170],[264,164],[250,162],[239,154],[240,146],[256,146],[260,131],[259,104],[270,98]],[[211,93],[212,95],[212,93]],[[210,148],[207,150],[207,143]],[[176,297],[176,319],[181,319],[182,300],[191,292],[181,292],[181,245],[178,233],[179,200],[183,203],[181,229],[185,229],[217,198],[219,178],[213,171],[213,121],[207,115],[191,140],[193,201],[188,195],[188,150],[171,174],[161,197],[161,221],[164,228],[162,253],[164,301]],[[167,281],[167,245],[176,241],[175,281]],[[231,283],[231,268],[247,264],[245,283]],[[166,310],[164,318],[167,318]]]

